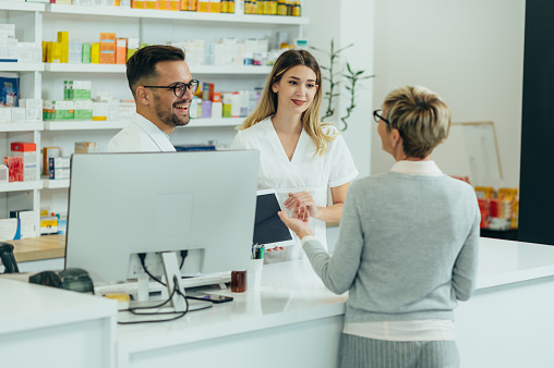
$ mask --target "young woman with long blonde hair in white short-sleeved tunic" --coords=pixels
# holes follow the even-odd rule
[[[320,122],[321,101],[322,75],[315,58],[305,50],[282,52],[231,148],[260,150],[258,189],[275,188],[289,210],[302,201],[310,209],[315,237],[326,248],[325,222],[340,220],[348,184],[358,170],[335,126]],[[300,240],[294,246],[268,250],[273,250],[265,253],[268,263],[305,257]]]

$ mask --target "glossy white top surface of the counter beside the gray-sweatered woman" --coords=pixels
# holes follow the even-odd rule
[[[554,275],[554,247],[481,238],[478,290],[549,275]],[[340,316],[347,299],[347,294],[335,295],[326,290],[308,260],[265,265],[258,292],[216,293],[233,296],[234,300],[193,311],[170,323],[120,326],[119,348],[129,353],[148,351]]]

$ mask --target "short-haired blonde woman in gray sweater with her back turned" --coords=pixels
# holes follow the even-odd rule
[[[390,172],[352,183],[333,257],[300,214],[282,221],[302,240],[333,292],[349,291],[342,367],[458,367],[457,300],[475,287],[480,213],[473,188],[430,159],[450,109],[431,90],[393,90],[373,112]]]

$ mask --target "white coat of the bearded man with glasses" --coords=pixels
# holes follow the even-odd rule
[[[134,113],[131,123],[123,127],[106,147],[106,152],[174,152],[169,136],[149,120]]]

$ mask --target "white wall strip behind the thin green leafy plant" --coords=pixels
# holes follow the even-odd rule
[[[304,15],[310,17],[304,36],[310,45],[330,50],[330,40],[335,40],[335,48],[339,49],[353,44],[341,56],[341,68],[348,61],[352,69],[364,70],[368,75],[373,74],[373,32],[374,32],[374,0],[304,0]],[[320,64],[328,66],[329,62],[324,53],[313,51]],[[325,74],[325,72],[324,72]],[[327,90],[324,81],[324,91]],[[344,137],[352,154],[360,176],[370,174],[371,169],[371,111],[373,99],[373,79],[359,83],[356,93],[356,109],[347,120],[348,128]],[[339,107],[335,115],[327,121],[341,127],[340,116],[346,115],[346,108],[350,105],[350,95],[340,88]],[[327,105],[322,107],[322,116]]]

